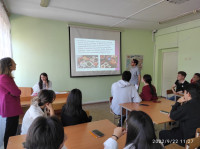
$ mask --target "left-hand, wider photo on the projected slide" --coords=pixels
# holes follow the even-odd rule
[[[98,55],[79,55],[77,62],[77,68],[97,68]]]

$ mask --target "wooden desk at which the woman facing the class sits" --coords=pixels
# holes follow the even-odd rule
[[[65,104],[67,101],[69,93],[65,94],[56,94],[56,99],[53,102],[54,110],[57,110],[57,105],[59,104]],[[26,97],[20,97],[20,102],[22,107],[29,107],[31,104],[31,99],[34,98],[34,96],[26,96]]]

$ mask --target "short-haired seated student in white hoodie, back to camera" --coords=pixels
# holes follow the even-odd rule
[[[110,108],[116,115],[121,115],[121,108],[119,104],[127,102],[141,102],[142,99],[138,95],[136,88],[129,82],[131,79],[130,71],[124,71],[122,80],[115,82],[111,87],[111,94],[113,97]],[[124,117],[125,119],[125,117]],[[123,122],[124,120],[122,120]],[[118,123],[120,126],[121,120]]]

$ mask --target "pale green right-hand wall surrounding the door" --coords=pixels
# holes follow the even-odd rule
[[[155,35],[155,84],[158,94],[161,94],[161,58],[162,51],[178,51],[178,71],[187,73],[186,80],[190,81],[193,74],[200,73],[200,20],[187,22],[158,30]]]

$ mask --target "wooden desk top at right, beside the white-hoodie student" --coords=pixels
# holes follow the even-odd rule
[[[120,104],[120,106],[127,109],[128,111],[136,110],[147,113],[155,124],[162,124],[173,121],[168,117],[168,114],[161,113],[160,110],[170,112],[171,106],[174,105],[175,102],[165,98],[161,98],[159,101],[161,102],[154,103],[152,101],[142,101],[141,103],[124,103]],[[140,104],[147,104],[149,106],[143,106]]]

